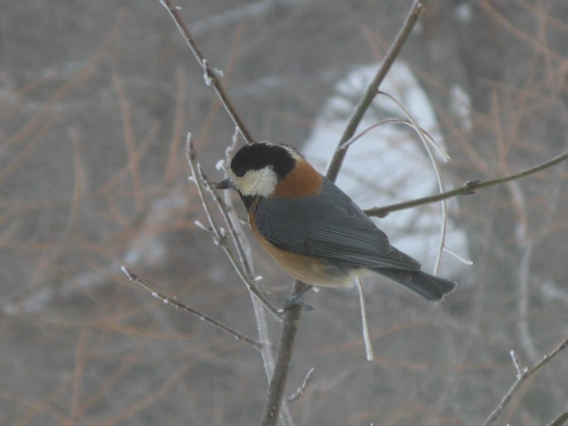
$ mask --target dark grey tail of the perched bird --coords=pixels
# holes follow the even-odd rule
[[[377,268],[374,271],[391,278],[408,290],[424,297],[427,300],[439,301],[444,295],[452,293],[456,288],[454,281],[430,275],[422,271],[408,271],[393,268]]]

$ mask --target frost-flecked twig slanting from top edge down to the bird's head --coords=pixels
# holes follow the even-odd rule
[[[176,8],[176,6],[174,6],[170,0],[160,0],[160,3],[170,13],[170,16],[173,18],[173,21],[175,22],[175,25],[178,26],[178,30],[180,30],[180,33],[182,33],[185,43],[187,43],[187,45],[190,46],[190,49],[193,55],[195,56],[195,59],[197,59],[197,62],[199,62],[200,67],[202,67],[205,83],[208,86],[213,87],[215,93],[217,93],[217,97],[219,97],[219,99],[221,100],[227,113],[234,121],[234,124],[239,128],[239,131],[241,132],[241,135],[243,135],[243,138],[246,141],[246,143],[253,143],[254,139],[251,136],[251,133],[249,132],[248,129],[246,129],[246,126],[241,120],[239,114],[236,114],[236,109],[233,107],[233,104],[231,104],[231,101],[229,100],[229,97],[227,96],[225,89],[221,84],[220,77],[222,77],[222,72],[220,70],[217,70],[217,68],[211,67],[207,59],[204,58],[199,46],[197,46],[197,43],[195,43],[195,40],[193,40],[190,30],[187,28],[187,26],[185,26],[185,23],[182,21],[180,13],[178,12],[178,8]]]

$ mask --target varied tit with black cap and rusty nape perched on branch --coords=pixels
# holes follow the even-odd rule
[[[336,287],[381,274],[427,300],[456,283],[420,270],[332,181],[289,146],[258,142],[231,160],[217,185],[239,192],[261,246],[303,283]]]

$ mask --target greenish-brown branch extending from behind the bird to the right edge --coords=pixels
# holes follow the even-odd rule
[[[410,209],[410,207],[417,207],[424,204],[430,204],[431,202],[447,200],[448,198],[455,197],[456,195],[473,194],[476,190],[480,190],[481,188],[498,185],[503,182],[509,182],[510,180],[525,178],[525,176],[532,175],[534,173],[545,170],[549,167],[552,167],[553,165],[561,163],[566,159],[568,159],[568,152],[557,155],[556,157],[552,158],[551,160],[548,160],[545,163],[537,165],[528,170],[523,170],[522,172],[519,173],[513,173],[511,175],[495,179],[471,180],[469,182],[466,182],[461,187],[456,188],[455,190],[442,192],[441,194],[430,195],[430,197],[422,197],[422,198],[417,198],[416,200],[399,202],[397,204],[391,204],[385,207],[373,207],[372,209],[366,209],[365,213],[368,214],[368,216],[385,217],[387,214],[391,212],[397,212],[398,210]]]

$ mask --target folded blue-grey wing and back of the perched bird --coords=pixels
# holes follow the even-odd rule
[[[269,198],[258,203],[258,231],[280,249],[366,268],[420,269],[398,251],[364,212],[324,178],[317,197]]]

